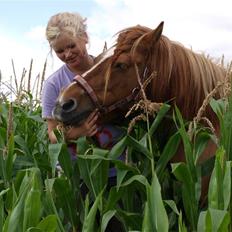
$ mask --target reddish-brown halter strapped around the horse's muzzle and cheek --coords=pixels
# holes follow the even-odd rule
[[[124,105],[129,104],[132,101],[135,101],[138,98],[139,91],[140,91],[139,87],[136,87],[131,91],[130,95],[123,98],[122,100],[117,101],[114,104],[109,105],[109,106],[103,106],[102,104],[99,103],[97,95],[95,94],[93,88],[88,84],[88,82],[81,75],[76,75],[73,78],[73,81],[75,81],[82,89],[85,90],[85,92],[89,95],[94,105],[103,114],[112,112],[113,110],[118,109],[118,108],[122,108]]]

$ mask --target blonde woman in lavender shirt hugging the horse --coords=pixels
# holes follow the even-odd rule
[[[86,29],[86,19],[78,13],[58,13],[52,16],[47,24],[46,38],[51,50],[64,63],[48,77],[42,91],[42,117],[47,121],[51,143],[57,142],[53,130],[58,122],[53,118],[52,110],[60,91],[69,85],[77,74],[84,73],[94,64],[94,58],[88,54],[86,48],[89,42]],[[99,146],[112,146],[122,135],[122,131],[111,125],[105,125],[100,130],[96,124],[97,119],[98,114],[94,112],[82,125],[69,129],[66,132],[66,141],[96,134]],[[70,148],[73,147],[70,145]],[[72,154],[75,152],[76,149],[72,149]]]

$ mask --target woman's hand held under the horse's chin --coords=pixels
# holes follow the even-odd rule
[[[70,128],[65,134],[66,140],[73,140],[82,136],[91,137],[96,134],[98,116],[99,113],[96,110],[80,126]]]

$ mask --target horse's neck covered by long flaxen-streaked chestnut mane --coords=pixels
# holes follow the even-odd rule
[[[150,72],[157,71],[148,98],[176,104],[187,119],[196,116],[206,95],[225,77],[222,68],[164,36],[148,63]]]

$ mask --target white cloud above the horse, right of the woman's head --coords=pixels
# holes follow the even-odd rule
[[[164,34],[195,51],[232,60],[231,1],[222,0],[96,0],[88,18],[90,34],[111,41],[117,31],[136,24],[155,28],[164,21]],[[92,46],[94,43],[92,42]]]

